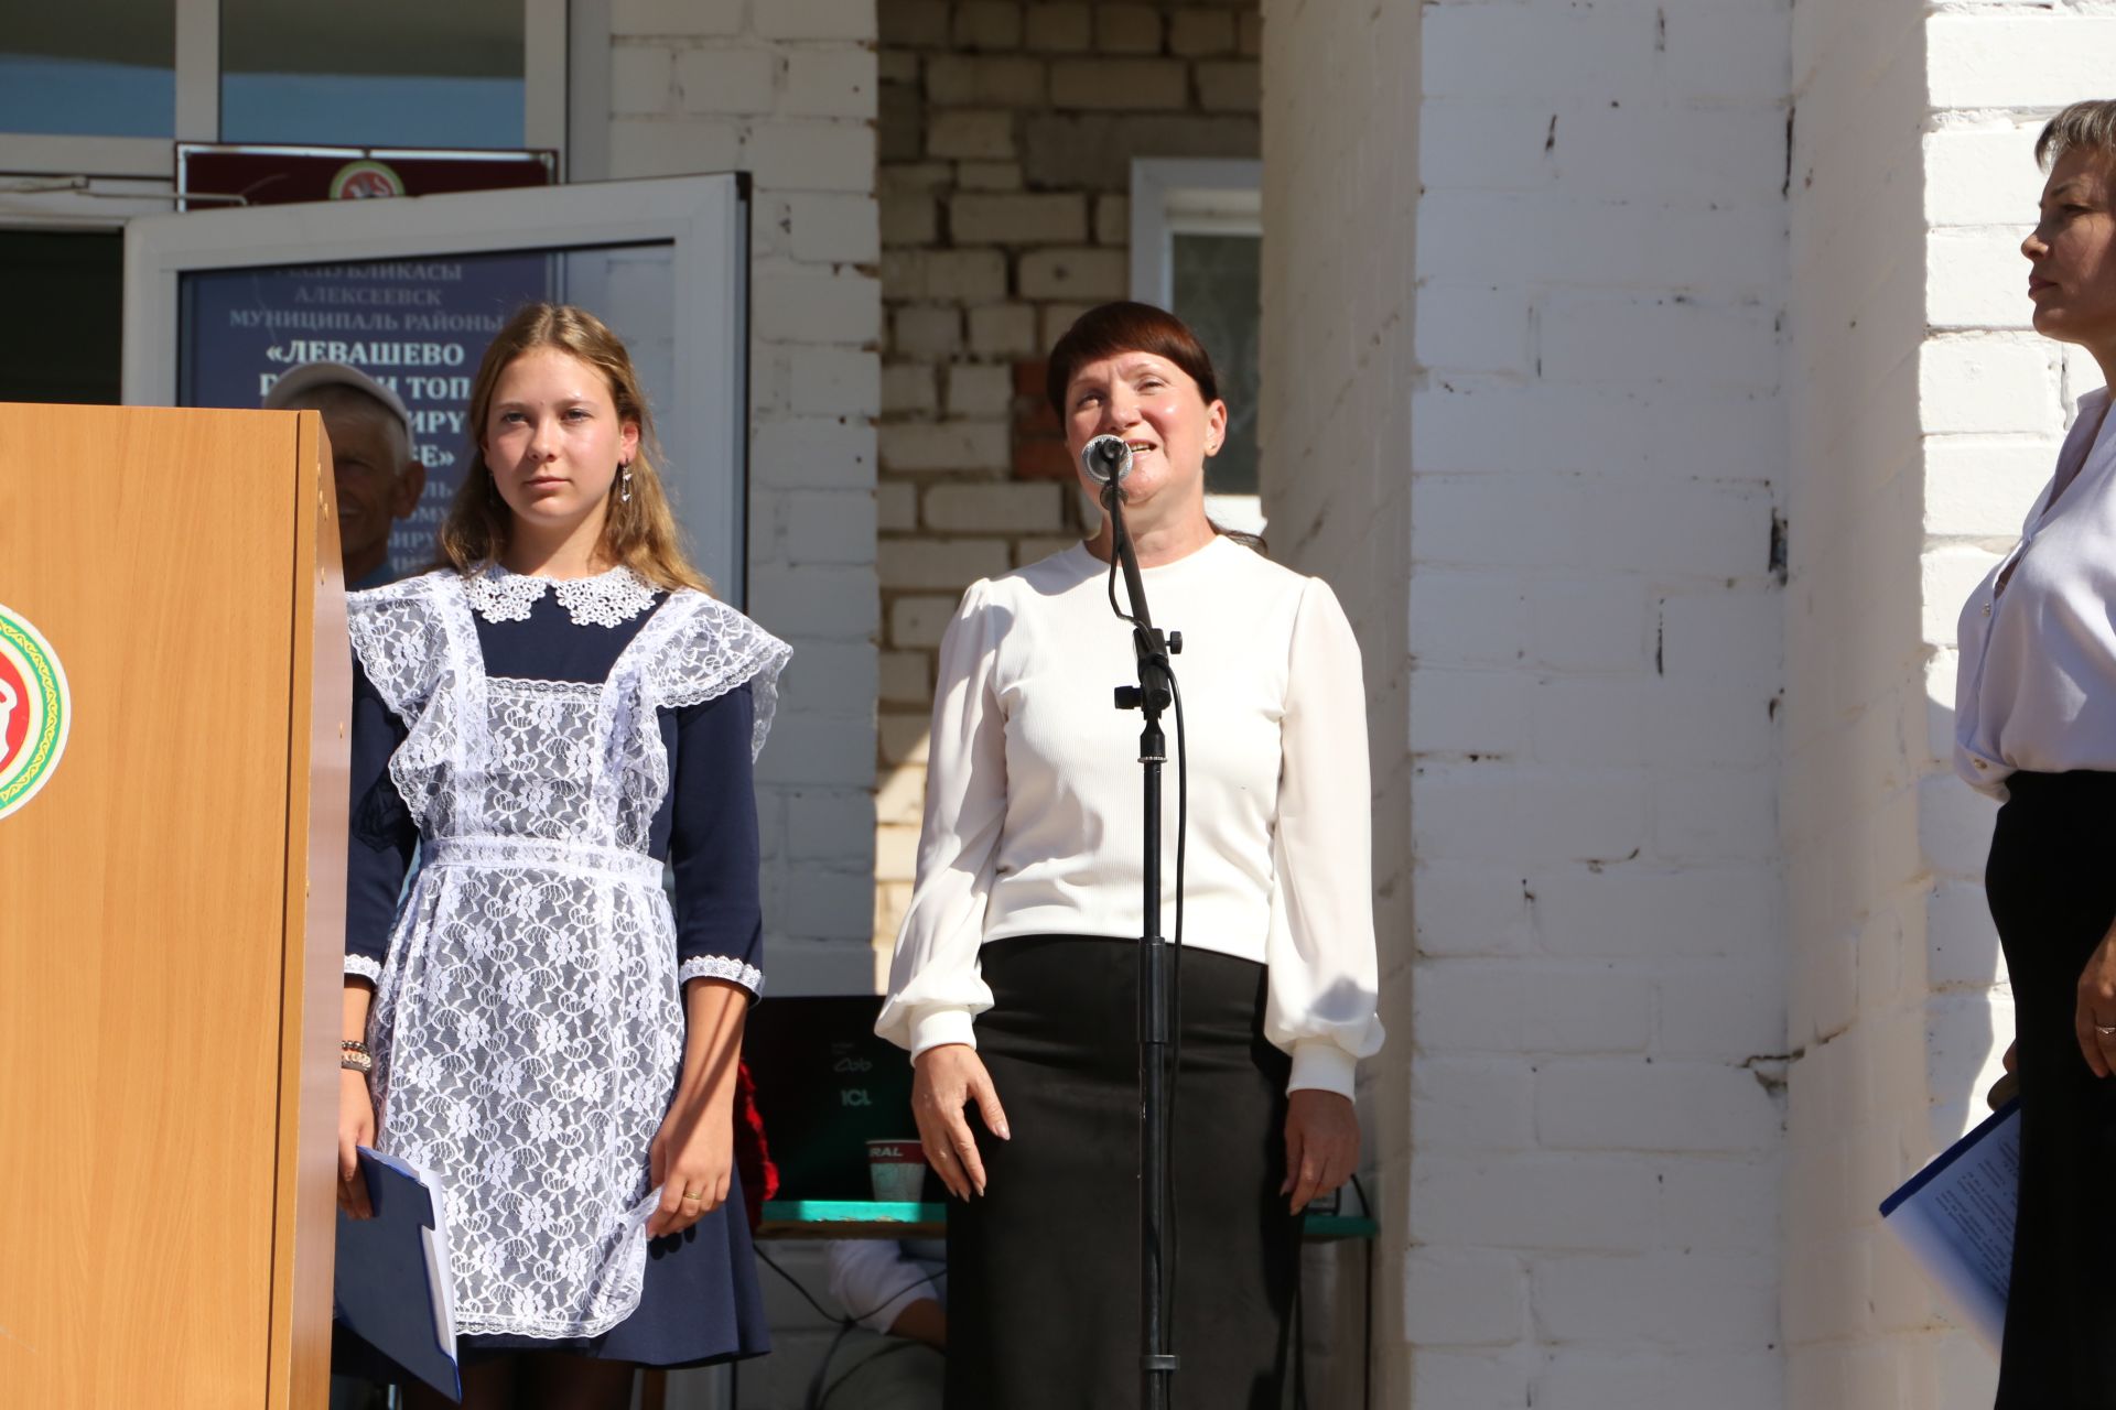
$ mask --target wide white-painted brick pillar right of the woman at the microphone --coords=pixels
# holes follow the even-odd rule
[[[1788,11],[1265,4],[1265,507],[1375,729],[1378,1404],[1788,1404]]]

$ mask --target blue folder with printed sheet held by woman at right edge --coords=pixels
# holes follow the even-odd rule
[[[2019,1108],[1949,1146],[1911,1186],[1894,1209],[1883,1205],[1881,1222],[1998,1355],[2021,1199]]]

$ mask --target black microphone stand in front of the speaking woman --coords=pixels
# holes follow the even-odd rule
[[[1141,710],[1138,767],[1145,774],[1145,934],[1138,943],[1138,1275],[1141,1275],[1141,1406],[1168,1410],[1176,1355],[1170,1349],[1174,1306],[1168,1296],[1164,1249],[1170,1247],[1168,1224],[1172,1205],[1170,1116],[1168,1106],[1174,1072],[1170,1070],[1170,1036],[1174,1029],[1174,983],[1168,966],[1168,941],[1162,936],[1162,765],[1168,761],[1168,740],[1162,734],[1162,710],[1174,700],[1168,657],[1183,651],[1183,634],[1162,634],[1147,613],[1147,588],[1138,577],[1138,554],[1124,526],[1124,495],[1117,480],[1102,488],[1109,509],[1111,552],[1124,571],[1124,590],[1132,598],[1132,651],[1138,655],[1138,685],[1117,687],[1119,710]]]

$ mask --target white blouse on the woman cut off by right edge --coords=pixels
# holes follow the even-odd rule
[[[2021,541],[1970,594],[1955,641],[1955,772],[2004,799],[2017,769],[2116,772],[2116,423],[2080,397]]]

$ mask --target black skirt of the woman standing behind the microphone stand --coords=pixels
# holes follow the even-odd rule
[[[1138,945],[984,947],[978,1051],[1014,1131],[978,1129],[986,1194],[948,1207],[948,1410],[1138,1404]],[[1291,1059],[1263,966],[1183,956],[1174,1108],[1174,1406],[1280,1410],[1299,1277]],[[975,1127],[975,1112],[971,1112]]]

